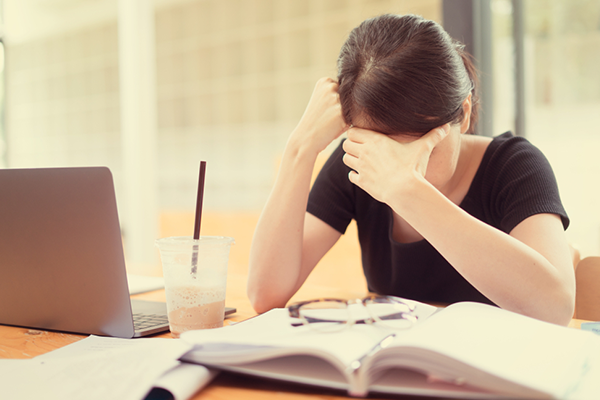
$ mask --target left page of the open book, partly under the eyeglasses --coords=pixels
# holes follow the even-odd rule
[[[412,302],[422,319],[436,307]],[[351,305],[355,319],[366,318],[361,305]],[[345,371],[369,353],[394,330],[380,324],[357,324],[335,332],[317,331],[309,326],[292,326],[287,309],[268,311],[247,321],[222,329],[186,332],[182,339],[197,345],[185,359],[216,365],[235,365],[294,354],[311,354],[328,360]]]

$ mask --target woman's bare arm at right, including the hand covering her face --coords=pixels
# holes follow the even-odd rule
[[[432,151],[449,131],[448,126],[436,128],[398,143],[352,129],[344,143],[344,162],[354,170],[350,180],[388,204],[500,307],[567,324],[575,280],[560,218],[534,215],[506,234],[450,201],[425,179]]]

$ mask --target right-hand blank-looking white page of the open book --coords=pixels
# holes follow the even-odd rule
[[[420,366],[437,379],[500,392],[512,382],[562,398],[583,374],[590,341],[598,340],[497,307],[457,303],[397,334],[371,362]]]

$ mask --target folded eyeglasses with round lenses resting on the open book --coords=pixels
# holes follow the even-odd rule
[[[380,323],[395,328],[410,328],[418,317],[415,306],[394,296],[367,296],[364,299],[317,299],[292,304],[289,315],[298,318],[292,326],[308,325],[319,331],[337,331],[354,324]]]

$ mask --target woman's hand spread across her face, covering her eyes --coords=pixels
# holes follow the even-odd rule
[[[425,179],[431,153],[449,131],[446,124],[412,139],[351,128],[343,146],[343,161],[352,169],[349,179],[376,200],[389,204],[410,190],[411,181]]]

